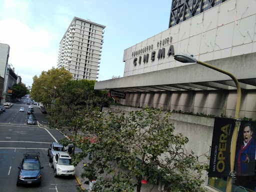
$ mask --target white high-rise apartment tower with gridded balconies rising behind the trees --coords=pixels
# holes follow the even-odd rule
[[[64,66],[75,80],[98,78],[104,28],[74,17],[60,41],[57,67]]]

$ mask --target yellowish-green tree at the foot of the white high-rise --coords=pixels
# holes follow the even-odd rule
[[[59,87],[71,78],[72,74],[64,67],[52,67],[48,71],[42,71],[39,77],[36,75],[33,76],[33,83],[30,91],[31,97],[37,102],[49,105],[53,99],[53,94],[55,93],[54,97],[57,98],[61,91]],[[48,89],[45,89],[44,87]]]

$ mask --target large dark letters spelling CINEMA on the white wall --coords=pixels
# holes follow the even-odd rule
[[[168,49],[168,52],[167,52],[167,56],[170,56],[171,54],[174,55],[174,48],[173,48],[172,44],[169,46],[169,49]],[[154,60],[155,56],[156,56],[156,52],[152,51],[150,59]],[[158,49],[157,58],[160,59],[160,58],[162,58],[164,56],[165,56],[165,48]],[[144,54],[142,62],[143,63],[148,62],[148,57],[149,57],[148,53]],[[133,65],[136,66],[137,62],[140,64],[141,63],[141,59],[142,59],[142,56],[139,56],[138,59],[135,57],[133,59]]]

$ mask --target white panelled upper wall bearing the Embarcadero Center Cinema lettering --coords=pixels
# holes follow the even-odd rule
[[[170,45],[174,53],[193,54],[201,61],[255,52],[255,7],[255,0],[227,0],[138,42],[124,50],[123,76],[187,65],[175,61],[172,55],[167,56]],[[165,48],[165,56],[158,59],[161,48]],[[154,60],[150,59],[152,51],[156,52]],[[141,56],[143,59],[147,53],[148,62],[133,64],[134,58],[138,60]]]

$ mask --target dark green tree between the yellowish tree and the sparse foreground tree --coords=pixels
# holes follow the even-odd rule
[[[111,99],[107,91],[94,90],[95,80],[69,80],[59,87],[61,91],[55,99],[54,107],[49,109],[50,126],[65,126],[77,134],[81,124],[77,123],[81,117],[109,106]],[[73,148],[75,145],[73,146]]]

